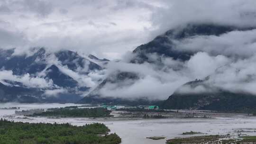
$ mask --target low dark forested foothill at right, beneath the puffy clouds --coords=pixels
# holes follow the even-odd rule
[[[238,91],[223,90],[208,83],[208,79],[185,83],[166,99],[161,108],[205,109],[221,112],[250,113],[256,111],[256,95]],[[203,91],[193,91],[196,88]],[[190,91],[186,91],[190,89]]]

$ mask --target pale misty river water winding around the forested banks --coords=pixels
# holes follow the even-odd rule
[[[256,135],[256,117],[246,114],[215,114],[212,118],[164,118],[164,119],[115,119],[115,118],[47,118],[24,117],[15,115],[15,110],[35,108],[59,108],[81,106],[78,104],[19,104],[0,103],[0,108],[19,107],[20,109],[0,109],[0,117],[13,121],[30,123],[71,123],[82,126],[94,122],[108,126],[111,133],[117,133],[122,138],[121,144],[165,144],[174,137],[192,136],[181,135],[183,132],[195,131],[208,135]],[[241,132],[241,130],[243,132]],[[165,136],[163,140],[146,139],[149,136]],[[194,135],[193,135],[194,136]]]

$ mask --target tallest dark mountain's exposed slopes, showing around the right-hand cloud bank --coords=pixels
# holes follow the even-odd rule
[[[152,41],[139,45],[134,51],[135,55],[129,63],[152,63],[157,66],[164,68],[165,63],[162,62],[161,58],[150,58],[152,54],[155,54],[158,57],[166,57],[172,58],[174,60],[180,60],[182,62],[188,61],[193,54],[196,54],[198,51],[184,51],[179,49],[176,45],[176,41],[181,41],[185,38],[192,38],[194,36],[220,36],[222,34],[239,30],[245,31],[253,29],[252,27],[233,27],[226,25],[215,25],[215,24],[189,24],[185,27],[177,27],[171,30],[168,30],[163,35],[156,36]],[[175,70],[175,69],[174,69]],[[123,73],[123,74],[122,74]],[[129,74],[127,74],[129,73]],[[123,78],[119,80],[119,75],[123,75]],[[113,99],[111,96],[104,96],[104,93],[101,92],[103,88],[106,87],[108,83],[116,84],[120,87],[122,86],[122,82],[131,80],[130,75],[133,77],[137,77],[137,79],[132,79],[133,81],[139,80],[138,73],[134,72],[114,72],[111,73],[106,80],[102,81],[101,84],[92,90],[86,97],[84,97],[80,102],[116,102],[117,99]],[[111,81],[110,81],[111,80]],[[121,82],[120,82],[121,81]],[[121,96],[120,96],[121,97]],[[97,99],[95,99],[97,98]],[[146,96],[145,96],[146,98]],[[156,98],[157,99],[157,98]],[[130,99],[122,99],[122,100],[130,100]],[[130,100],[136,102],[136,100]],[[163,107],[168,108],[168,102],[163,105]],[[172,107],[170,107],[172,108]]]

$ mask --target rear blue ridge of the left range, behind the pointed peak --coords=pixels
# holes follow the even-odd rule
[[[0,68],[11,70],[16,75],[25,73],[41,72],[46,68],[47,58],[53,54],[47,54],[45,48],[40,48],[36,53],[27,56],[26,54],[14,55],[14,49],[0,50]],[[87,72],[93,70],[101,70],[101,66],[91,62],[90,60],[80,56],[72,51],[59,51],[54,54],[62,65],[67,66],[72,71],[76,71],[79,67],[87,68]]]

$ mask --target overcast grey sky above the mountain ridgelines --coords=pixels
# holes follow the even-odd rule
[[[0,43],[118,59],[177,25],[256,24],[256,0],[0,0]]]

